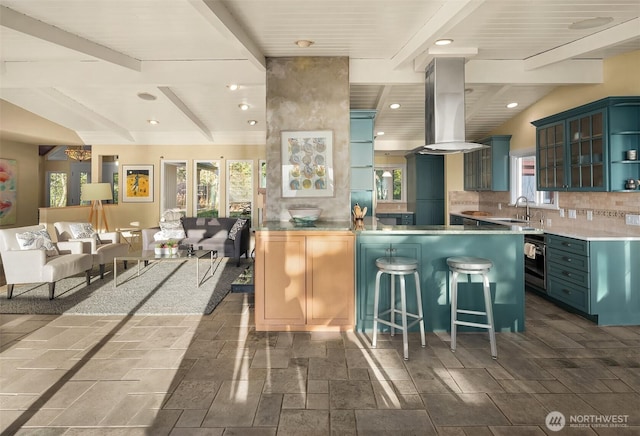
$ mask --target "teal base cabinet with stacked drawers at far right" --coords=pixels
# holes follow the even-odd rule
[[[640,324],[640,241],[547,236],[549,297],[599,325]]]

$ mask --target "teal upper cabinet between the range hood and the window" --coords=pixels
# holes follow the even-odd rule
[[[509,143],[511,135],[494,135],[478,141],[488,148],[464,155],[465,191],[509,190]]]

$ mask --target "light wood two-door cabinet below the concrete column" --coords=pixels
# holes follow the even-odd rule
[[[353,330],[354,241],[351,231],[257,231],[256,330]]]

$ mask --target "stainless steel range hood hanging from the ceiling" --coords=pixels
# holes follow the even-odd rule
[[[426,145],[419,154],[468,153],[485,148],[466,142],[464,116],[464,58],[436,58],[425,72]]]

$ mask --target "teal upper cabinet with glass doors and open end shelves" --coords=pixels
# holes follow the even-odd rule
[[[624,191],[640,178],[640,97],[609,97],[538,121],[540,191]]]

